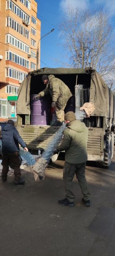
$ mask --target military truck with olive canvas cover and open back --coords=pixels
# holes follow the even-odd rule
[[[43,68],[28,73],[21,83],[17,101],[17,129],[31,152],[38,154],[45,150],[59,126],[31,125],[31,95],[45,89],[41,77],[53,74],[61,79],[75,94],[75,85],[83,85],[81,106],[92,102],[95,110],[83,122],[89,129],[87,151],[88,160],[96,161],[101,167],[108,168],[113,157],[115,134],[115,96],[92,68]],[[57,85],[58,86],[58,85]]]

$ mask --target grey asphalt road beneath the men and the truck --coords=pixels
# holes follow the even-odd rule
[[[115,256],[115,151],[109,169],[87,164],[90,207],[75,178],[75,207],[58,204],[63,163],[50,164],[39,183],[23,170],[24,186],[13,175],[0,181],[0,256]]]

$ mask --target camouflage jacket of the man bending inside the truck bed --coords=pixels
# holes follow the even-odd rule
[[[50,93],[52,101],[57,102],[58,107],[61,109],[66,106],[67,101],[72,96],[69,87],[63,83],[59,78],[54,75],[48,76],[49,82],[46,88],[39,93],[42,97]]]

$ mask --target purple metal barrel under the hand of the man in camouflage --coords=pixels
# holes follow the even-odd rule
[[[49,102],[46,97],[35,100],[31,95],[31,125],[50,125]]]

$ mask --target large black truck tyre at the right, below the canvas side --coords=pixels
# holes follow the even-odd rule
[[[104,149],[104,161],[98,162],[97,165],[102,168],[109,168],[114,150],[114,134],[108,132],[106,136],[106,148]]]

